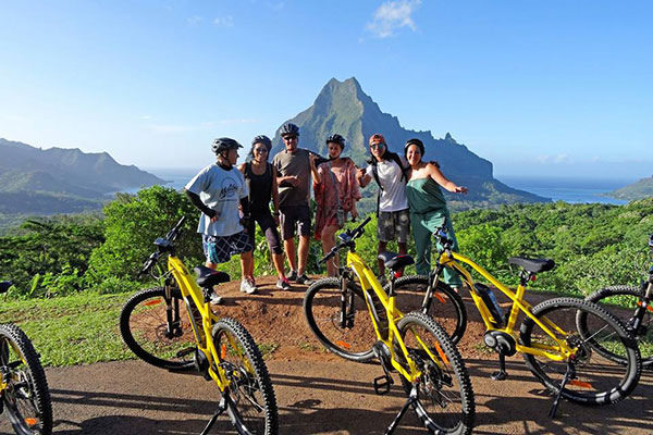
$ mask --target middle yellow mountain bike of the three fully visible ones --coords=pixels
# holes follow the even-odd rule
[[[348,250],[347,266],[340,268],[340,278],[318,279],[306,291],[308,325],[329,350],[343,358],[365,361],[377,357],[384,372],[374,380],[377,394],[390,391],[390,372],[399,373],[408,399],[386,434],[394,432],[408,408],[432,434],[469,434],[475,418],[473,393],[456,347],[428,315],[404,315],[396,308],[394,277],[386,294],[372,270],[356,254],[356,239],[369,221],[341,233],[338,244],[321,260],[325,262],[341,249]],[[384,260],[393,271],[412,262],[409,256],[389,256]]]

